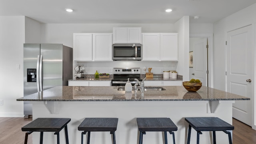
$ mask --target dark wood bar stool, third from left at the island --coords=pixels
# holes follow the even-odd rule
[[[177,126],[170,118],[137,118],[138,129],[140,131],[139,144],[142,144],[143,134],[147,132],[164,132],[164,142],[167,144],[167,132],[172,134],[173,144],[175,136],[173,131],[177,131]]]

